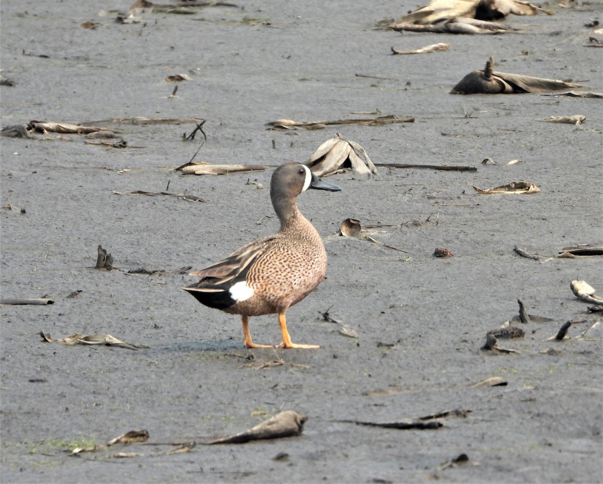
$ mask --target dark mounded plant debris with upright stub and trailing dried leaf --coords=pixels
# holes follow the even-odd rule
[[[549,92],[561,89],[582,88],[582,84],[530,75],[494,72],[494,59],[490,57],[484,70],[473,71],[461,79],[450,94],[523,94]]]

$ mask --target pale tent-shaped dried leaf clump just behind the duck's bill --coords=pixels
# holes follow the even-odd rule
[[[377,174],[377,168],[364,148],[355,141],[342,138],[339,133],[321,144],[305,164],[318,177],[342,173],[346,168],[358,177]]]

